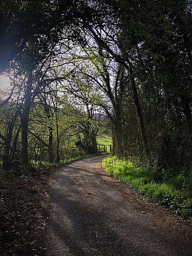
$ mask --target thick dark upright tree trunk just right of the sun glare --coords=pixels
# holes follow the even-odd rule
[[[29,111],[31,106],[31,96],[32,96],[32,72],[28,76],[27,88],[25,93],[25,104],[24,112],[21,121],[22,125],[22,162],[26,165],[29,164],[28,157],[28,124],[29,124]]]

